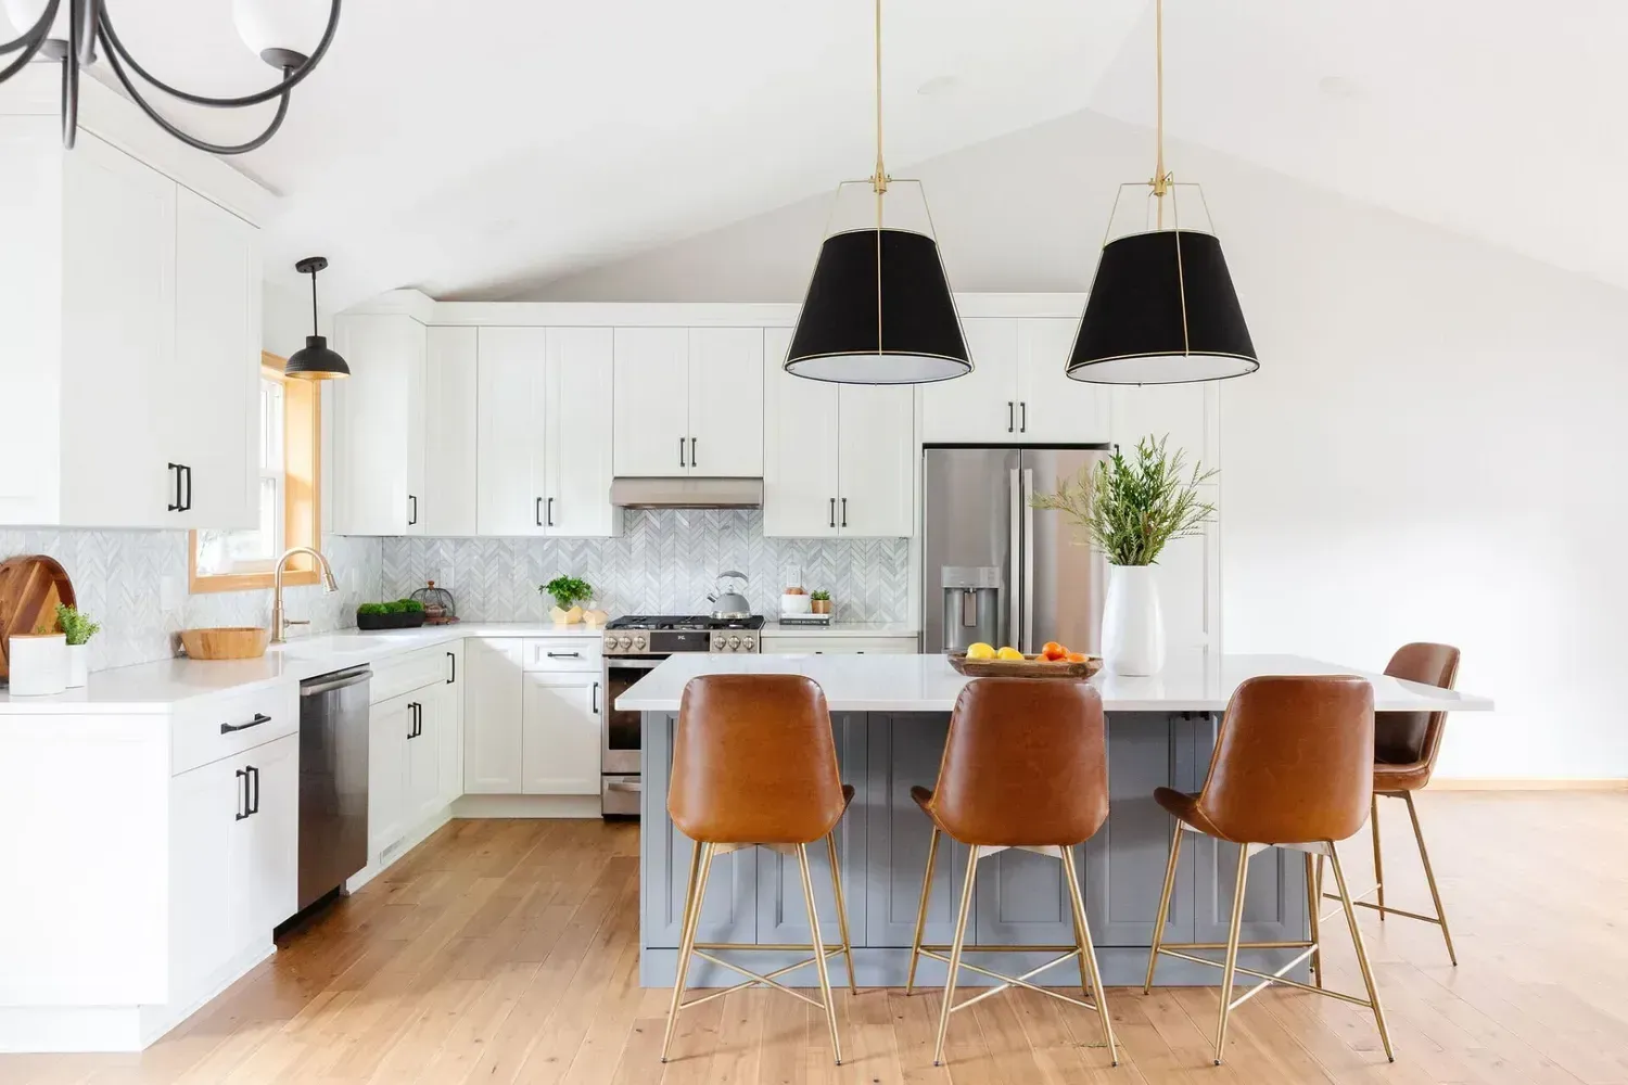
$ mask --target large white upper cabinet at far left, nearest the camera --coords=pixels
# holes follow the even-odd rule
[[[0,524],[252,527],[259,231],[46,117],[0,161]]]

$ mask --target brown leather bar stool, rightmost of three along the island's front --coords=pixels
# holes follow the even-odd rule
[[[1374,1023],[1379,1026],[1379,1038],[1385,1044],[1385,1057],[1395,1062],[1390,1033],[1385,1030],[1385,1013],[1379,1005],[1379,991],[1374,986],[1374,970],[1368,963],[1368,950],[1363,947],[1363,932],[1356,926],[1351,893],[1345,883],[1340,857],[1333,849],[1337,839],[1346,839],[1361,830],[1363,820],[1368,817],[1374,795],[1372,756],[1374,688],[1364,678],[1356,675],[1258,677],[1239,685],[1228,703],[1203,791],[1197,795],[1185,795],[1169,787],[1159,787],[1153,792],[1154,800],[1175,817],[1175,834],[1171,839],[1171,861],[1164,869],[1164,893],[1159,896],[1159,916],[1153,924],[1153,948],[1148,953],[1148,979],[1143,984],[1143,992],[1153,986],[1153,971],[1161,953],[1219,968],[1221,1020],[1216,1023],[1216,1065],[1221,1065],[1231,1012],[1271,984],[1301,987],[1371,1009]],[[1203,833],[1239,846],[1232,914],[1224,943],[1162,940],[1164,922],[1171,914],[1171,890],[1175,887],[1175,867],[1182,854],[1184,833]],[[1306,852],[1306,896],[1312,924],[1312,937],[1306,942],[1239,940],[1249,859],[1267,848],[1291,848]],[[1314,857],[1327,857],[1333,867],[1335,883],[1340,888],[1337,900],[1345,906],[1345,921],[1356,947],[1356,963],[1363,971],[1363,984],[1368,987],[1366,1000],[1284,978],[1291,968],[1307,958],[1315,961],[1320,953]],[[1278,971],[1262,973],[1239,966],[1237,952],[1241,948],[1298,948],[1302,952]],[[1226,950],[1226,958],[1214,961],[1184,950]],[[1262,983],[1234,1000],[1232,981],[1237,973],[1257,976]]]

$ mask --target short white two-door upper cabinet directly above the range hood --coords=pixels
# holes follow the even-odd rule
[[[760,329],[617,329],[620,477],[764,473]]]

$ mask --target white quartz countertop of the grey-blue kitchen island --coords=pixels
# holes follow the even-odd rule
[[[834,712],[947,712],[970,682],[944,656],[672,656],[617,698],[633,712],[676,712],[684,685],[707,673],[807,675]],[[1219,712],[1232,690],[1255,675],[1361,675],[1381,711],[1490,711],[1490,698],[1402,682],[1304,656],[1172,652],[1151,678],[1099,673],[1091,682],[1110,712]]]

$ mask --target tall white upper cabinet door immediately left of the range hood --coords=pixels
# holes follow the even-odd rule
[[[612,332],[549,329],[547,348],[544,530],[549,535],[620,535],[622,509],[610,504]]]

